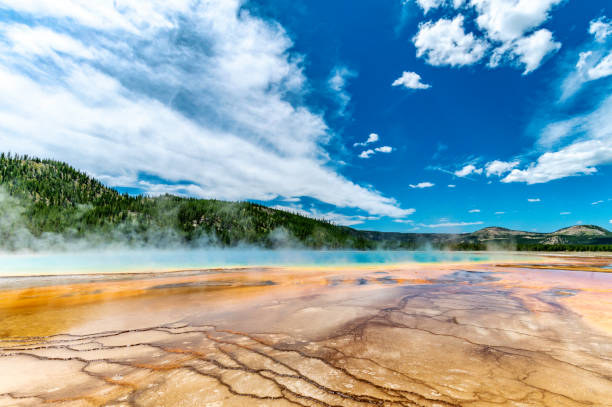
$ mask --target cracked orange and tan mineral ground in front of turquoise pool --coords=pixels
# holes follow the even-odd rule
[[[612,406],[611,262],[4,279],[0,406]]]

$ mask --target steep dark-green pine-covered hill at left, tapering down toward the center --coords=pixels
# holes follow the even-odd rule
[[[0,154],[0,194],[0,246],[5,249],[83,240],[153,246],[373,247],[354,230],[325,220],[249,202],[119,194],[65,163],[27,156]]]

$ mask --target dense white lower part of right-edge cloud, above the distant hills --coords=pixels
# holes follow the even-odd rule
[[[554,123],[553,123],[554,125]],[[541,154],[524,169],[513,169],[502,182],[537,184],[574,175],[596,173],[612,163],[612,96],[594,111],[572,119],[569,144]]]

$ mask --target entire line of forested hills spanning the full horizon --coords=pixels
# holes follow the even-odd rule
[[[65,163],[0,153],[0,250],[109,244],[612,251],[612,233],[591,225],[553,233],[498,227],[456,235],[358,231],[249,202],[119,194]]]

